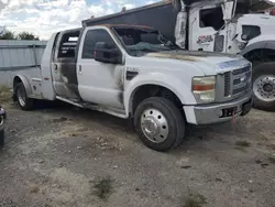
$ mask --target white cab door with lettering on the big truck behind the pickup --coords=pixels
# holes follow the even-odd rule
[[[226,52],[226,30],[221,6],[190,11],[189,45],[193,51]],[[217,33],[219,31],[219,33]]]

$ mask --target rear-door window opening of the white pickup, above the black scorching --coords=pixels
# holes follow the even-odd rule
[[[58,58],[74,58],[80,31],[65,33],[58,48]]]

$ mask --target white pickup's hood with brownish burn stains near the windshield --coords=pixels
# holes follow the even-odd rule
[[[145,56],[189,62],[200,68],[205,75],[223,74],[250,64],[250,62],[239,55],[183,50],[148,53]]]

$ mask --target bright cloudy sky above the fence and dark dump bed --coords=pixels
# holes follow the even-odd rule
[[[157,0],[0,0],[0,25],[47,40],[53,32],[77,28],[81,20]]]

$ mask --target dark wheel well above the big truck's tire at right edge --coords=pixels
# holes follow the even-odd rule
[[[274,62],[275,50],[271,48],[256,48],[243,55],[252,63]]]

